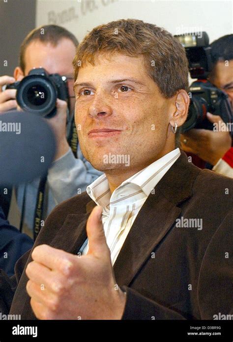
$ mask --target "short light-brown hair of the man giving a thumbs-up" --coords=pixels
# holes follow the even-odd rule
[[[166,97],[188,92],[188,61],[185,50],[171,33],[137,19],[121,19],[90,31],[76,49],[75,80],[80,65],[94,65],[98,52],[118,52],[130,57],[143,55],[148,75]]]

